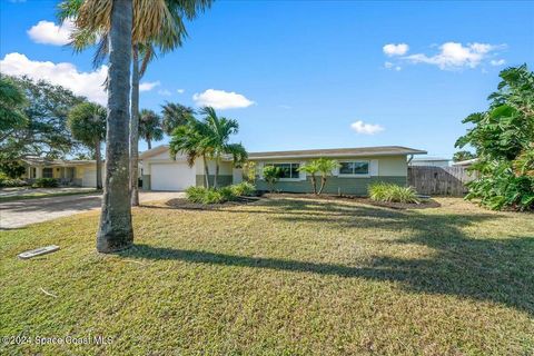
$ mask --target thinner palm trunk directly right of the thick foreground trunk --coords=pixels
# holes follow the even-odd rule
[[[131,119],[130,119],[130,194],[131,206],[139,206],[139,59],[138,47],[134,44],[131,71]]]

